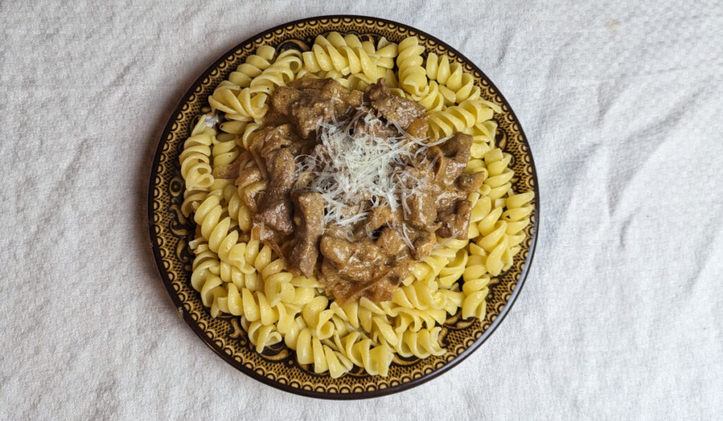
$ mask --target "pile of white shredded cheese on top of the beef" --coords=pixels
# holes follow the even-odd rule
[[[358,125],[366,129],[356,130]],[[398,126],[395,136],[377,136],[385,123],[359,108],[353,118],[317,126],[317,146],[296,159],[296,173],[311,171],[312,191],[325,201],[325,222],[349,227],[364,220],[370,209],[388,205],[408,212],[406,197],[426,180],[414,178],[406,165],[430,145],[406,135]]]

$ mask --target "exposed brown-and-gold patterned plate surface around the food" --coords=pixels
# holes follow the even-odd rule
[[[312,45],[317,35],[330,31],[352,32],[361,38],[384,36],[395,43],[416,35],[427,53],[445,54],[450,61],[462,64],[465,71],[474,75],[476,84],[482,89],[482,97],[502,108],[502,113],[495,116],[499,123],[496,140],[505,152],[513,155],[510,162],[515,171],[513,188],[535,192],[527,240],[521,244],[522,250],[515,256],[510,270],[500,274],[499,282],[492,285],[484,321],[463,320],[459,314],[451,316],[440,333],[442,346],[447,350],[444,355],[424,360],[395,357],[387,377],[369,376],[361,369],[336,379],[328,373],[318,375],[296,363],[294,352],[283,343],[259,354],[241,329],[239,318],[212,318],[202,305],[200,294],[190,284],[193,254],[188,243],[194,225],[181,213],[184,181],[179,154],[192,129],[193,118],[201,108],[208,107],[208,96],[214,88],[260,45],[273,45],[282,50],[303,49]],[[153,254],[163,284],[179,315],[211,350],[249,376],[284,391],[326,399],[361,399],[403,391],[439,376],[461,363],[495,331],[519,295],[532,261],[539,219],[539,191],[530,147],[515,113],[497,87],[469,59],[432,35],[401,23],[373,17],[327,16],[297,20],[255,35],[203,72],[181,98],[158,142],[150,175],[148,213]]]

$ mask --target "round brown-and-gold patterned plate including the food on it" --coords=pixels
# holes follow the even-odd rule
[[[334,105],[343,101],[346,108]],[[315,114],[319,122],[304,132],[304,124],[315,120],[299,116],[319,110],[326,114]],[[343,130],[335,126],[352,118],[349,113],[355,113],[354,125]],[[280,118],[288,118],[286,127],[296,134],[275,126]],[[384,136],[370,134],[372,124],[382,128]],[[292,156],[296,181],[306,170],[327,182],[322,186],[307,181],[302,185],[306,193],[288,193],[295,206],[288,212],[294,212],[298,232],[299,215],[306,218],[300,237],[269,228],[278,215],[264,220],[261,210],[264,200],[276,194],[265,188],[281,191],[281,175],[271,171],[281,165],[278,157],[283,154],[268,144],[282,139],[282,132],[299,139],[291,145],[308,144],[309,136],[317,142],[316,149]],[[349,142],[361,146],[348,149]],[[285,151],[292,149],[287,146]],[[319,152],[322,146],[329,149]],[[360,161],[348,160],[348,153],[361,153],[365,159],[373,155],[368,162],[383,162],[380,174],[396,168],[398,177],[399,168],[406,168],[407,181],[401,186],[385,179],[386,184],[375,185],[382,175],[358,175],[367,172],[368,162],[367,167],[352,168]],[[317,156],[312,159],[313,154]],[[330,156],[346,159],[346,167],[331,162],[336,173],[315,169]],[[301,167],[300,161],[305,162]],[[409,176],[420,162],[431,175],[418,171]],[[341,183],[338,177],[344,171],[358,184],[354,188],[372,192],[364,196],[367,204],[359,204],[348,191],[343,196],[338,188],[330,189],[328,180]],[[438,176],[449,180],[442,183]],[[459,199],[446,207],[437,200],[439,209],[432,209],[435,216],[426,232],[407,216],[415,212],[407,204],[416,202],[384,193],[380,199],[373,193],[374,188],[387,188],[408,194],[404,189],[411,183],[418,188],[412,193],[422,195],[419,188],[432,191],[432,181],[439,183],[436,191],[452,191]],[[322,198],[319,210],[306,213],[304,209],[316,208],[308,208],[312,199],[302,201],[302,196]],[[284,391],[326,399],[403,391],[474,352],[520,293],[539,218],[529,143],[495,85],[432,35],[358,16],[290,22],[245,40],[213,63],[181,98],[163,131],[148,201],[155,261],[184,321],[211,350],[247,375]],[[324,248],[325,238],[322,246],[313,246],[321,234],[307,238],[313,212],[320,212],[327,224],[320,233],[337,233],[350,206],[366,206],[354,212],[369,214],[382,207],[380,203],[403,208],[394,212],[405,216],[382,220],[374,233],[355,237],[359,240],[344,240],[350,237],[343,234],[326,239],[327,245],[332,240],[343,244],[336,248]],[[354,212],[351,219],[359,225]],[[390,243],[380,246],[382,237]],[[395,251],[388,251],[394,239]],[[424,252],[420,241],[429,246]],[[346,265],[355,258],[338,259],[339,253],[357,247],[353,254],[360,256],[361,243],[377,255],[380,250],[389,253],[385,259],[403,257],[405,264],[377,261],[381,266],[369,272],[362,267],[368,262],[356,259],[361,269],[349,272]],[[312,256],[307,264],[297,251]],[[369,279],[362,273],[370,273]]]

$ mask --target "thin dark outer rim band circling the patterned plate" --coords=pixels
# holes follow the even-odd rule
[[[158,164],[161,159],[161,154],[163,153],[163,144],[166,142],[166,138],[168,137],[168,134],[171,133],[172,126],[174,125],[175,117],[181,113],[181,108],[183,108],[184,103],[187,101],[187,97],[192,95],[194,93],[194,90],[197,86],[199,86],[203,79],[207,77],[214,69],[216,69],[223,61],[226,60],[226,58],[233,54],[234,51],[238,50],[239,48],[242,48],[243,45],[247,43],[252,43],[254,40],[260,37],[264,37],[265,35],[268,35],[270,33],[273,33],[275,30],[283,29],[283,27],[286,27],[288,25],[296,25],[302,22],[308,22],[309,20],[321,20],[321,19],[367,19],[367,20],[375,20],[377,22],[385,22],[387,24],[397,25],[398,27],[406,28],[406,30],[414,30],[419,35],[424,35],[425,37],[429,38],[430,40],[434,40],[435,43],[439,43],[444,48],[447,48],[449,51],[452,51],[453,53],[457,54],[463,61],[466,61],[466,63],[469,63],[472,66],[472,69],[475,71],[479,71],[479,74],[482,75],[483,79],[487,79],[489,81],[489,86],[492,87],[496,92],[497,95],[500,95],[502,98],[502,102],[508,105],[508,108],[510,109],[510,113],[512,114],[513,118],[515,119],[515,122],[518,124],[520,128],[520,133],[522,134],[522,140],[523,143],[526,144],[528,155],[530,157],[530,166],[531,166],[531,173],[532,178],[534,180],[534,192],[535,192],[535,202],[534,202],[534,220],[532,224],[532,234],[531,234],[531,242],[530,242],[530,248],[529,252],[527,253],[527,259],[523,265],[522,273],[520,274],[520,278],[518,279],[517,285],[515,286],[515,290],[513,290],[512,294],[510,295],[510,299],[507,303],[505,303],[504,308],[502,308],[502,311],[500,311],[500,315],[495,318],[495,321],[492,322],[492,324],[489,326],[489,328],[484,331],[484,334],[482,334],[481,337],[476,339],[469,348],[464,350],[460,355],[455,357],[453,360],[451,360],[449,363],[446,363],[445,365],[442,365],[442,367],[437,368],[436,370],[432,371],[431,373],[425,374],[419,378],[415,378],[412,381],[409,381],[407,383],[401,383],[398,386],[391,386],[386,389],[377,389],[374,391],[362,391],[362,392],[356,392],[356,393],[348,393],[348,394],[330,394],[327,392],[318,392],[318,391],[307,391],[304,389],[297,389],[292,386],[289,386],[287,384],[278,383],[277,381],[273,381],[270,378],[267,378],[265,376],[260,375],[259,373],[256,373],[254,370],[245,367],[242,364],[239,364],[234,360],[232,357],[226,355],[226,353],[223,352],[223,350],[219,349],[218,347],[213,344],[213,341],[206,337],[202,329],[198,326],[198,324],[192,320],[189,313],[183,308],[183,303],[181,303],[181,300],[179,300],[178,295],[176,294],[176,291],[174,291],[172,287],[171,279],[168,279],[168,274],[166,273],[165,269],[163,269],[163,261],[161,259],[161,251],[160,248],[158,248],[158,237],[155,234],[154,230],[154,224],[153,224],[153,188],[155,187],[155,177],[158,175]],[[450,45],[445,43],[444,41],[429,35],[427,32],[424,32],[422,30],[418,30],[414,27],[411,27],[409,25],[404,25],[399,22],[395,22],[393,20],[389,19],[382,19],[379,17],[369,17],[369,16],[361,16],[361,15],[355,15],[355,14],[331,14],[331,15],[325,15],[325,16],[317,16],[317,17],[307,17],[304,19],[296,19],[291,22],[286,22],[281,25],[277,25],[269,30],[265,30],[263,32],[260,32],[256,35],[253,35],[252,37],[247,38],[243,42],[239,43],[238,45],[234,46],[234,48],[231,48],[228,52],[221,55],[221,58],[218,58],[218,60],[214,61],[213,64],[208,66],[205,71],[202,72],[202,74],[193,82],[191,87],[184,92],[184,95],[181,96],[181,99],[179,100],[178,105],[176,105],[176,108],[174,109],[174,112],[171,113],[171,117],[168,118],[168,123],[166,123],[165,129],[163,129],[163,134],[161,134],[161,139],[158,141],[158,147],[156,147],[155,150],[155,156],[153,157],[153,167],[151,168],[150,172],[150,183],[148,185],[148,229],[150,233],[150,243],[151,248],[153,249],[153,256],[155,258],[155,265],[158,269],[158,273],[161,275],[161,279],[163,280],[163,285],[166,287],[166,290],[168,291],[168,295],[171,297],[171,300],[174,302],[174,305],[176,305],[176,308],[179,309],[179,313],[181,314],[181,317],[186,321],[186,323],[191,327],[191,329],[197,334],[198,337],[206,344],[208,347],[213,350],[216,354],[218,354],[223,360],[226,361],[226,363],[231,364],[234,368],[241,370],[241,372],[247,374],[247,376],[250,376],[257,381],[261,381],[262,383],[267,384],[268,386],[272,386],[275,389],[280,389],[282,391],[286,391],[292,394],[297,394],[301,396],[308,396],[312,398],[318,398],[318,399],[333,399],[333,400],[353,400],[353,399],[369,399],[369,398],[376,398],[380,396],[385,396],[389,394],[395,394],[401,391],[406,391],[408,389],[412,389],[416,386],[419,386],[422,383],[426,383],[427,381],[432,380],[433,378],[436,378],[437,376],[442,375],[442,373],[446,373],[451,368],[455,367],[459,363],[461,363],[463,360],[466,359],[466,357],[469,357],[469,355],[472,354],[472,352],[476,351],[482,343],[484,343],[497,329],[497,326],[500,326],[500,323],[505,319],[505,316],[510,311],[510,308],[512,308],[513,304],[515,303],[515,300],[517,300],[518,295],[520,295],[520,292],[522,290],[522,287],[527,279],[527,274],[529,273],[530,266],[532,264],[532,259],[534,256],[534,251],[537,244],[537,231],[539,227],[539,183],[537,179],[537,173],[535,168],[534,159],[532,157],[532,149],[530,148],[530,144],[527,140],[527,136],[522,128],[521,123],[519,122],[517,116],[515,115],[514,110],[508,103],[508,101],[505,99],[504,95],[502,95],[502,92],[497,89],[494,83],[492,83],[492,80],[487,77],[484,72],[479,69],[479,67],[476,66],[469,58],[464,56],[462,53],[457,51],[455,48],[452,48]]]

